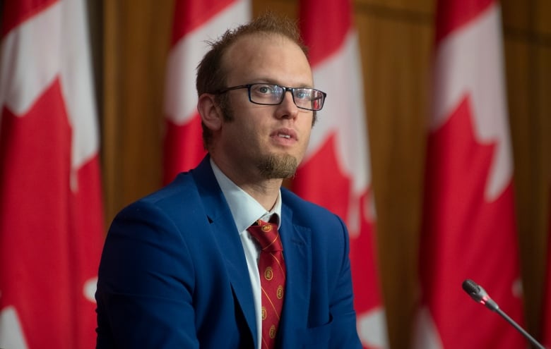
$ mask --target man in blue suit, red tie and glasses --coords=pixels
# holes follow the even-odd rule
[[[361,348],[348,231],[281,188],[325,99],[295,25],[266,15],[227,31],[197,90],[208,156],[114,219],[97,348]]]

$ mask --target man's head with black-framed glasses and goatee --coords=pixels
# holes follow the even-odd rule
[[[211,47],[196,82],[206,149],[218,166],[243,162],[239,169],[253,164],[263,178],[292,176],[314,124],[315,111],[304,99],[314,95],[312,106],[321,106],[325,97],[312,91],[295,23],[268,14],[225,32]],[[274,92],[278,97],[264,99]]]

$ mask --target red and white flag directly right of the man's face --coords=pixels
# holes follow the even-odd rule
[[[328,97],[292,189],[346,221],[358,333],[364,348],[388,348],[375,253],[362,68],[350,1],[302,0],[300,25],[314,85]]]

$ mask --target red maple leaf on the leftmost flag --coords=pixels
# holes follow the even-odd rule
[[[71,127],[59,80],[25,115],[2,110],[0,311],[15,307],[29,348],[88,348],[102,211],[97,157],[71,191]]]

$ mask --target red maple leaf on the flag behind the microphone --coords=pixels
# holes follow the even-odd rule
[[[476,140],[469,97],[429,135],[421,276],[444,348],[525,345],[509,324],[461,289],[471,278],[512,318],[522,318],[521,300],[514,295],[519,259],[512,178],[496,200],[484,197],[495,147]]]

